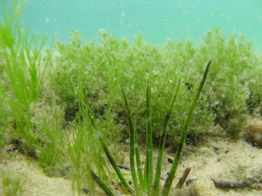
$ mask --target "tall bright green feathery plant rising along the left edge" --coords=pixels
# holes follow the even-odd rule
[[[50,63],[54,51],[52,45],[43,60],[41,51],[47,40],[46,36],[40,40],[40,35],[29,36],[29,29],[21,28],[19,17],[25,2],[19,5],[19,0],[11,3],[6,10],[6,1],[3,7],[3,20],[0,21],[0,39],[4,48],[5,70],[11,89],[4,92],[5,100],[10,107],[10,118],[15,128],[12,134],[15,137],[25,138],[38,144],[32,130],[32,117],[39,97],[45,68]],[[40,43],[39,43],[40,41]]]

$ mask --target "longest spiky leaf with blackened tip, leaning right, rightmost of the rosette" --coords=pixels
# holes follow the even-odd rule
[[[163,190],[162,190],[162,195],[163,196],[167,196],[168,195],[170,187],[172,185],[172,182],[173,182],[173,179],[174,179],[174,175],[175,175],[177,167],[178,167],[179,159],[181,157],[181,152],[182,152],[182,149],[183,149],[185,138],[186,138],[186,135],[187,135],[188,124],[190,122],[194,106],[196,105],[198,97],[199,97],[199,95],[200,95],[200,93],[202,91],[202,88],[204,86],[204,83],[206,81],[207,72],[208,72],[210,63],[211,63],[211,60],[207,63],[207,67],[206,67],[205,73],[204,73],[204,75],[202,77],[202,80],[201,80],[199,86],[198,86],[197,94],[195,95],[195,97],[194,97],[194,99],[193,99],[193,101],[192,101],[192,103],[190,105],[187,118],[186,118],[186,120],[184,122],[183,131],[182,131],[181,136],[180,136],[180,141],[179,141],[179,145],[178,145],[178,148],[177,148],[177,151],[176,151],[176,154],[175,154],[175,159],[174,159],[173,165],[171,167],[171,170],[169,172],[169,175],[168,175],[168,177],[167,177],[167,179],[165,181],[165,184],[164,184],[164,187],[163,187]]]

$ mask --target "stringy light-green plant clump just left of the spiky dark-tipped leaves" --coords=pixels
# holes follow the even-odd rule
[[[92,174],[90,170],[96,168],[103,179],[107,179],[102,148],[99,145],[99,133],[102,134],[101,121],[96,121],[92,110],[88,107],[83,96],[83,89],[79,88],[79,111],[76,119],[71,123],[71,131],[66,133],[67,142],[65,153],[72,167],[73,189],[80,194],[81,185],[87,183],[88,190],[94,195]],[[94,127],[96,126],[96,128]]]

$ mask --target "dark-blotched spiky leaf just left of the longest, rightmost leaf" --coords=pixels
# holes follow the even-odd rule
[[[162,129],[161,136],[160,136],[157,164],[156,164],[156,170],[155,170],[155,182],[154,182],[154,187],[153,187],[153,195],[155,195],[155,196],[158,195],[158,191],[159,191],[159,183],[160,183],[160,175],[161,175],[161,167],[162,167],[162,157],[163,157],[164,143],[165,143],[167,127],[168,127],[168,124],[169,124],[171,112],[173,110],[174,102],[175,102],[175,99],[176,99],[176,96],[177,96],[177,93],[178,93],[178,90],[179,90],[179,86],[180,86],[180,78],[179,78],[177,89],[176,89],[174,96],[173,96],[173,98],[170,102],[170,105],[167,109],[163,129]]]

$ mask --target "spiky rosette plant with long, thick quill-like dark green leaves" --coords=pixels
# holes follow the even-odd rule
[[[183,145],[185,142],[185,138],[187,135],[187,129],[188,125],[193,113],[194,106],[196,105],[196,102],[198,100],[198,97],[200,96],[200,93],[202,91],[202,88],[204,86],[204,83],[207,78],[207,72],[209,69],[211,61],[208,62],[207,67],[205,69],[204,75],[202,77],[202,80],[198,86],[198,90],[196,95],[194,96],[194,99],[189,107],[188,115],[184,121],[183,125],[183,131],[180,136],[180,141],[179,145],[175,154],[174,162],[171,167],[171,170],[169,172],[169,175],[165,181],[164,187],[162,189],[161,195],[168,195],[169,190],[171,188],[174,175],[176,173],[178,164],[179,164],[179,159],[181,157]],[[167,110],[167,114],[164,120],[161,136],[160,136],[160,143],[159,143],[159,151],[158,151],[158,158],[157,158],[157,166],[156,166],[156,173],[155,173],[155,180],[153,184],[153,142],[152,142],[152,114],[151,114],[151,87],[150,83],[147,82],[146,86],[146,122],[147,122],[147,129],[146,129],[146,160],[145,160],[145,169],[144,169],[144,175],[142,175],[142,169],[141,169],[141,160],[140,160],[140,155],[139,155],[139,148],[138,148],[138,140],[137,140],[137,130],[136,130],[136,120],[132,120],[132,115],[131,115],[131,110],[129,106],[129,102],[126,96],[126,93],[124,89],[122,88],[122,93],[124,96],[125,100],[125,105],[126,105],[126,111],[127,111],[127,117],[128,117],[128,124],[129,124],[129,138],[130,138],[130,170],[131,170],[131,176],[134,184],[134,188],[136,191],[136,195],[141,195],[142,193],[146,194],[152,194],[152,195],[159,195],[159,183],[160,183],[160,175],[161,175],[161,167],[162,167],[162,157],[163,157],[163,151],[164,151],[164,143],[165,143],[165,138],[166,138],[166,133],[167,133],[167,128],[171,116],[171,112],[173,110],[174,106],[174,101],[177,97],[178,91],[179,91],[179,86],[180,86],[180,79],[179,83],[177,86],[177,89],[174,93],[174,96],[172,97],[172,100],[170,102],[170,105]],[[104,152],[106,153],[110,163],[112,164],[114,170],[116,171],[121,183],[124,185],[124,187],[127,189],[129,193],[130,187],[127,184],[126,180],[124,179],[123,175],[121,174],[121,171],[119,170],[116,162],[114,161],[113,157],[111,156],[108,148],[102,143]],[[137,165],[137,173],[136,175],[136,169],[135,169],[135,154],[136,154],[136,165]],[[138,176],[138,177],[137,177]],[[100,180],[97,179],[97,176],[93,176],[93,179],[96,180],[99,184],[99,186],[105,191],[107,195],[112,195],[112,192],[109,190],[109,188],[105,185],[102,184]],[[138,180],[139,179],[139,183]]]

